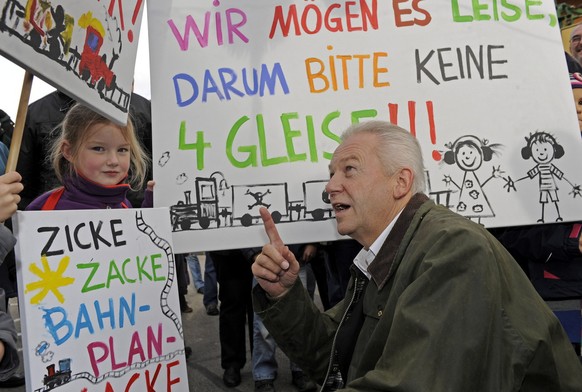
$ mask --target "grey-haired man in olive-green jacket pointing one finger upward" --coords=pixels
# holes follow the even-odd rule
[[[349,128],[327,192],[340,234],[362,244],[343,301],[325,313],[261,211],[255,311],[324,391],[582,391],[568,337],[485,228],[435,205],[420,146],[371,121]]]

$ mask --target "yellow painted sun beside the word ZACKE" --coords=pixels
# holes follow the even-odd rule
[[[26,285],[26,290],[24,291],[25,293],[40,290],[38,294],[30,299],[31,304],[38,305],[49,292],[52,292],[60,303],[65,302],[65,298],[59,291],[59,288],[73,284],[75,281],[75,278],[63,276],[65,270],[69,266],[69,261],[69,256],[63,257],[61,261],[59,261],[59,266],[55,271],[51,270],[46,256],[41,257],[44,270],[41,270],[35,263],[30,265],[28,268],[29,271],[40,278],[40,280],[31,282]]]

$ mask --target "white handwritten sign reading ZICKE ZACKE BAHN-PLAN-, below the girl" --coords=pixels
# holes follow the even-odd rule
[[[16,214],[27,391],[188,390],[167,216]]]

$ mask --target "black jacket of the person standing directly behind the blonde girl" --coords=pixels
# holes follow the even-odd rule
[[[74,104],[73,98],[60,91],[53,91],[28,106],[22,146],[16,165],[16,171],[22,175],[24,185],[24,190],[20,193],[22,198],[19,204],[20,209],[24,209],[36,197],[61,185],[55,176],[49,152],[53,142],[60,135],[61,122]],[[132,94],[129,113],[134,122],[137,137],[146,150],[146,154],[151,158],[150,101],[138,94]],[[146,178],[151,178],[151,168]],[[128,193],[128,198],[133,205],[141,205],[143,197],[143,190]]]

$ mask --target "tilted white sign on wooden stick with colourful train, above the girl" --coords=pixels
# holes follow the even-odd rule
[[[0,0],[0,54],[123,124],[143,0]]]

